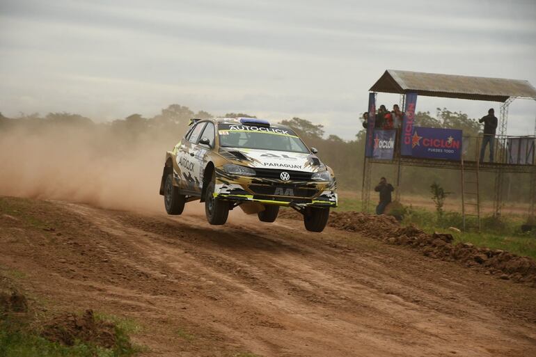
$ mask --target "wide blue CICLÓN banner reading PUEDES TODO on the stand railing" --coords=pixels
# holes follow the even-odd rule
[[[427,159],[462,159],[462,130],[413,127],[411,156]]]

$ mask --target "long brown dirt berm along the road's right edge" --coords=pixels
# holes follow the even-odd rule
[[[284,210],[281,218],[301,219],[293,210]],[[452,235],[428,233],[415,225],[402,227],[393,216],[375,216],[361,212],[331,212],[328,225],[340,230],[358,232],[365,237],[381,239],[388,244],[411,246],[427,257],[461,262],[467,267],[482,267],[500,278],[522,281],[536,286],[536,262],[501,251],[475,247],[469,243],[452,244]]]

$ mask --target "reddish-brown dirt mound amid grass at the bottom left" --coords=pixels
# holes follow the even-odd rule
[[[72,346],[79,340],[112,348],[117,340],[115,324],[95,319],[93,310],[86,310],[82,316],[68,313],[55,317],[45,324],[41,335],[47,340],[67,346]]]

